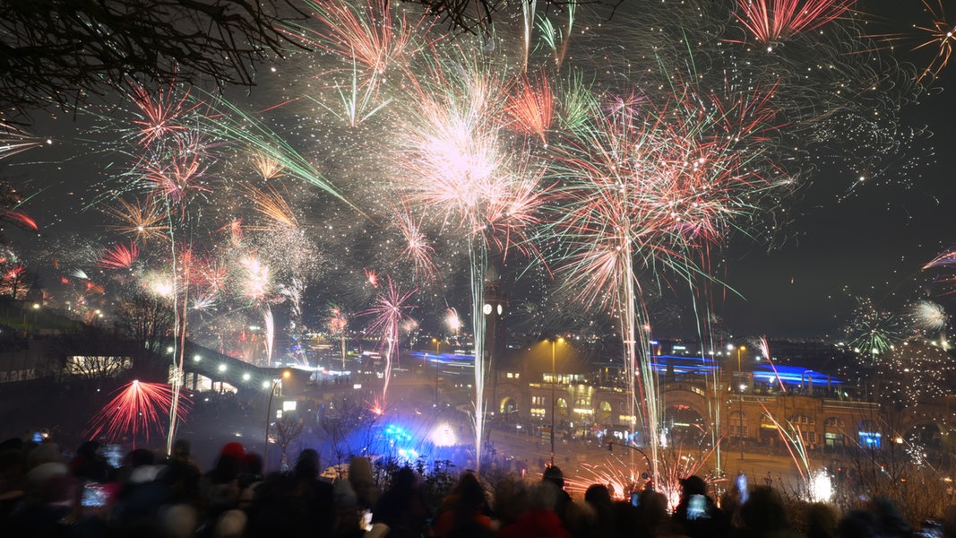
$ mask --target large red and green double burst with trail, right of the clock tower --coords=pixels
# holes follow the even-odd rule
[[[705,275],[695,258],[752,210],[747,197],[768,189],[753,149],[773,117],[767,95],[735,102],[708,96],[709,114],[693,111],[690,100],[704,96],[691,88],[677,95],[688,101],[660,111],[646,102],[593,110],[588,127],[555,148],[553,169],[564,181],[552,229],[567,253],[559,271],[582,303],[619,316],[627,376],[641,382],[631,389],[641,402],[655,476],[662,414],[644,353],[649,325],[638,277],[660,278],[665,270],[690,281]]]

